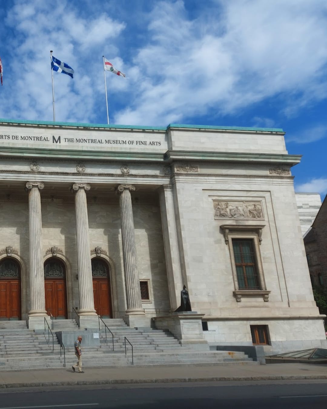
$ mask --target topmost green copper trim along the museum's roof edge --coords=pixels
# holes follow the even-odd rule
[[[53,122],[53,121],[18,121],[16,119],[1,119],[0,124],[22,124],[22,125],[48,125],[48,126],[72,126],[78,128],[107,128],[107,129],[143,129],[143,130],[162,130],[169,128],[188,128],[188,129],[212,129],[212,130],[245,130],[252,132],[282,132],[281,128],[244,128],[242,126],[215,126],[215,125],[184,125],[169,124],[165,126],[143,126],[143,125],[111,125],[111,124],[84,124],[83,122]]]

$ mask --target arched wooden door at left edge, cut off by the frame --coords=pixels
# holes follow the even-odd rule
[[[0,262],[0,319],[21,319],[20,265],[12,258]]]

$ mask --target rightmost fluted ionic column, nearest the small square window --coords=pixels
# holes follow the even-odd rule
[[[132,209],[131,184],[118,186],[120,193],[119,205],[121,213],[121,238],[123,242],[123,263],[125,273],[125,289],[127,314],[144,313],[142,310],[139,272],[137,270],[137,255],[135,245],[134,220]]]

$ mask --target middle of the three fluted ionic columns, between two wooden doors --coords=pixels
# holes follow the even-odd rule
[[[96,315],[94,310],[92,267],[90,256],[89,219],[87,216],[86,190],[87,183],[74,183],[77,272],[79,288],[79,315]]]

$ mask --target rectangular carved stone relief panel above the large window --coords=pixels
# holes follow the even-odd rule
[[[262,203],[242,200],[213,200],[215,220],[264,220]]]

